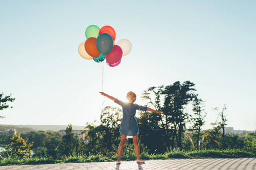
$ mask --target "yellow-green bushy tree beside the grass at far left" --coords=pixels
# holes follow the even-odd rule
[[[11,143],[5,146],[5,150],[1,152],[1,156],[3,158],[29,158],[31,153],[31,147],[33,143],[28,143],[22,137],[20,137],[20,133],[18,135],[14,135],[11,138]]]

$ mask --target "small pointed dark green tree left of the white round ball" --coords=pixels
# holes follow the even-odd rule
[[[65,130],[66,134],[62,137],[60,151],[63,155],[76,155],[79,152],[80,140],[77,134],[72,132],[72,125],[69,124]]]

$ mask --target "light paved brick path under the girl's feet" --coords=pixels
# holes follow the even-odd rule
[[[80,169],[256,169],[256,158],[226,158],[226,159],[169,159],[169,160],[146,160],[146,163],[140,164],[135,161],[122,162],[116,165],[115,162],[101,163],[61,163],[61,164],[43,164],[43,165],[13,165],[2,166],[0,169],[16,170],[80,170]]]

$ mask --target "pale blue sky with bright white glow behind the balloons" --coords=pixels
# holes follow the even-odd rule
[[[256,130],[255,1],[0,0],[0,124],[81,125],[129,91],[195,83],[205,125],[226,104],[228,126]],[[110,25],[133,48],[116,67],[80,57],[89,25]],[[103,74],[102,74],[103,73]],[[102,76],[103,75],[103,76]],[[102,83],[103,79],[103,83]],[[189,111],[191,113],[191,111]]]

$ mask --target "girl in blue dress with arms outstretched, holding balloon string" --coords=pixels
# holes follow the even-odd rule
[[[142,111],[150,111],[155,113],[163,113],[163,111],[155,111],[154,109],[150,109],[148,107],[143,107],[138,104],[134,104],[136,100],[136,94],[132,91],[127,93],[126,99],[128,100],[128,103],[125,103],[121,100],[115,99],[115,97],[109,96],[105,94],[104,92],[100,92],[101,95],[108,97],[109,99],[113,100],[115,103],[121,105],[123,108],[123,118],[120,126],[119,132],[122,134],[121,142],[118,148],[118,158],[117,158],[117,164],[121,164],[121,154],[123,150],[123,145],[125,145],[126,137],[133,136],[133,143],[135,147],[135,152],[137,156],[137,163],[144,163],[144,161],[139,158],[139,145],[138,145],[138,123],[135,119],[136,110],[142,110]]]

